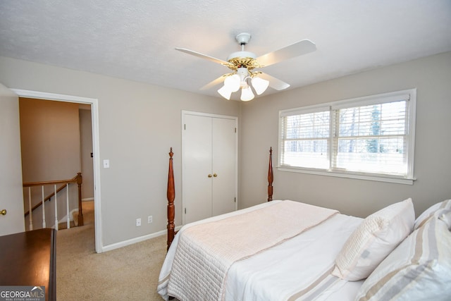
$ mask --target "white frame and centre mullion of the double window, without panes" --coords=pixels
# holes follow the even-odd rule
[[[344,109],[353,106],[363,106],[366,104],[379,104],[384,102],[395,101],[399,99],[400,96],[407,97],[409,99],[409,106],[407,111],[407,175],[406,176],[397,176],[397,175],[387,175],[381,173],[362,173],[362,172],[354,172],[354,171],[340,171],[332,168],[321,169],[321,168],[305,168],[305,167],[297,167],[297,166],[286,166],[282,165],[282,156],[283,156],[283,137],[282,137],[282,126],[283,126],[283,118],[285,116],[293,116],[304,113],[312,113],[318,111],[330,111],[330,137],[329,140],[333,140],[333,110],[335,109]],[[304,106],[295,109],[286,109],[279,111],[279,128],[278,128],[278,170],[279,171],[290,171],[297,173],[309,173],[314,175],[321,176],[335,176],[341,178],[355,178],[361,180],[375,180],[381,182],[389,182],[389,183],[399,183],[399,184],[407,184],[413,185],[414,180],[414,146],[415,146],[415,116],[416,116],[416,88],[409,90],[402,90],[397,92],[388,92],[383,94],[376,94],[366,97],[357,97],[353,99],[344,99],[336,102],[329,102],[326,104],[319,104],[314,106]],[[331,148],[331,144],[329,146]],[[334,158],[333,154],[330,151],[328,154],[329,166],[332,166],[330,161]]]

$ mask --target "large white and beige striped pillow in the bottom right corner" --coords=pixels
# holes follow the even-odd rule
[[[451,232],[429,219],[366,279],[356,301],[450,300]]]

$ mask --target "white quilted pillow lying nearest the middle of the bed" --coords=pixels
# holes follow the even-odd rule
[[[412,199],[385,207],[354,230],[335,259],[333,276],[362,280],[412,232],[415,213]]]

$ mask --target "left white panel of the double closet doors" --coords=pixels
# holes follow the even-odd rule
[[[183,205],[185,223],[211,216],[211,118],[185,116]]]

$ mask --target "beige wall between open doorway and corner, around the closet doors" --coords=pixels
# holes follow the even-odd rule
[[[4,57],[0,82],[98,99],[100,160],[109,159],[111,166],[100,174],[103,246],[166,229],[169,147],[174,152],[175,223],[181,224],[182,110],[240,116],[239,102]],[[137,218],[143,221],[140,227]]]

